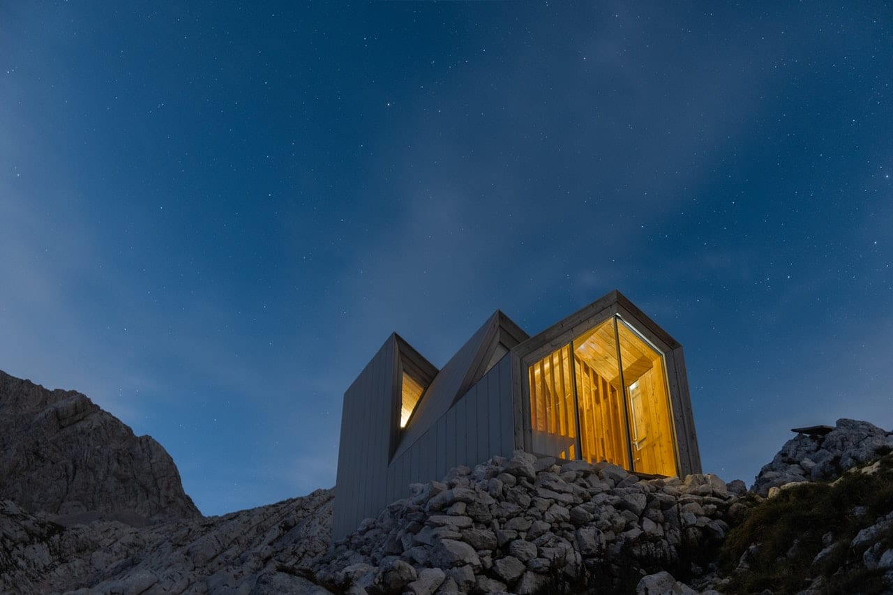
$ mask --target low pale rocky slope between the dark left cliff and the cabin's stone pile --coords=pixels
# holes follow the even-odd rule
[[[291,572],[330,547],[331,490],[230,515],[63,527],[0,501],[0,592],[326,593]]]

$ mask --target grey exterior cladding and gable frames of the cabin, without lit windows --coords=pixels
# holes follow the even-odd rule
[[[530,450],[526,366],[610,316],[621,316],[663,352],[680,473],[699,473],[682,348],[618,291],[530,338],[493,314],[441,370],[392,334],[346,390],[338,449],[333,539],[409,495],[409,485],[441,479],[457,465]],[[405,428],[401,382],[408,366],[426,386]]]

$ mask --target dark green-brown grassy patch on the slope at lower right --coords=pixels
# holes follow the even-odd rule
[[[817,577],[822,577],[822,592],[889,590],[884,571],[866,569],[864,549],[853,551],[849,545],[856,533],[893,510],[893,455],[880,459],[877,473],[847,473],[834,485],[805,483],[746,504],[745,520],[722,547],[722,574],[731,578],[724,591],[797,592]],[[880,542],[885,549],[893,547],[893,524]],[[816,560],[828,543],[831,548]],[[739,566],[742,557],[745,563]]]

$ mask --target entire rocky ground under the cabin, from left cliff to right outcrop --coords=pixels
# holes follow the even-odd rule
[[[2,592],[893,592],[893,435],[871,423],[789,440],[750,491],[516,451],[331,544],[331,490],[205,518],[83,395],[0,373],[0,413]]]

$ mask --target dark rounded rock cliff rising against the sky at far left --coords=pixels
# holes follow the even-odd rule
[[[201,514],[167,451],[73,390],[0,372],[0,499],[63,523]]]

